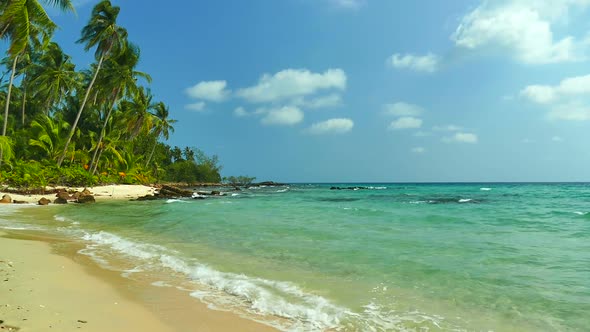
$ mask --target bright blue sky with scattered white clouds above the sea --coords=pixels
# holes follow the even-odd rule
[[[94,1],[54,14],[75,40]],[[590,0],[114,1],[179,120],[258,180],[590,180]]]

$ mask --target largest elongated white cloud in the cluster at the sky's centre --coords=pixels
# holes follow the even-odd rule
[[[346,89],[346,73],[342,69],[328,69],[323,73],[285,69],[274,75],[264,74],[257,85],[240,89],[237,95],[250,102],[276,102],[330,89]]]

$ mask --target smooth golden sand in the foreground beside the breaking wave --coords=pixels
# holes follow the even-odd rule
[[[82,246],[37,232],[0,231],[0,328],[11,331],[276,331],[173,288],[121,276]]]

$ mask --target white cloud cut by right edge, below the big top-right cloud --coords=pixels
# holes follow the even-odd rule
[[[520,95],[538,104],[590,94],[590,75],[567,77],[559,85],[529,85]]]

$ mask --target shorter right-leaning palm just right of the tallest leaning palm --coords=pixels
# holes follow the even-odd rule
[[[139,48],[131,43],[128,43],[125,51],[117,57],[109,59],[105,62],[104,70],[98,81],[101,86],[110,87],[107,89],[107,99],[110,99],[110,107],[108,113],[104,118],[104,123],[100,136],[98,138],[98,146],[101,146],[102,139],[105,135],[105,130],[108,121],[111,118],[111,113],[115,107],[115,104],[119,101],[121,96],[132,96],[137,93],[137,79],[143,78],[148,83],[151,82],[152,78],[146,73],[134,70],[135,66],[139,62]],[[92,161],[90,162],[90,169],[92,172],[96,172],[96,156],[98,149],[94,150]],[[94,166],[94,168],[93,168]]]

